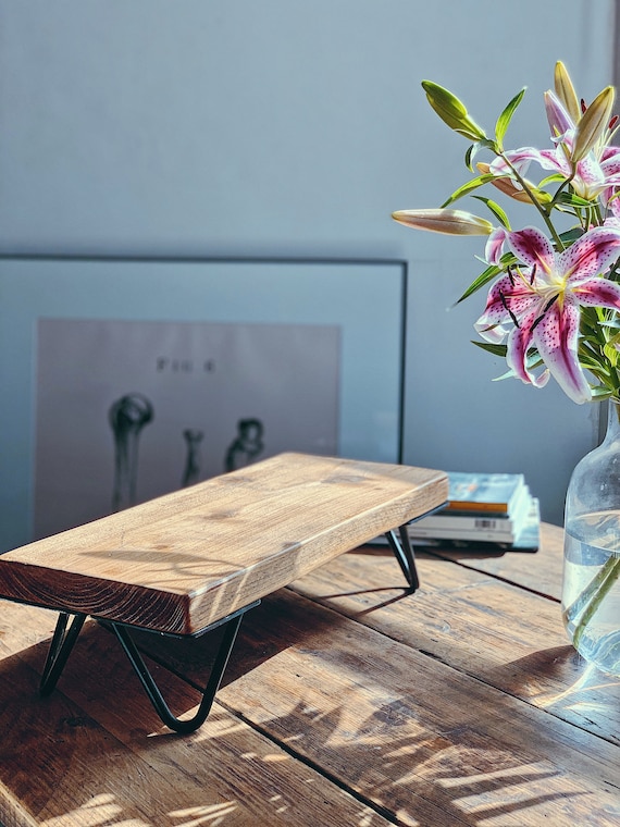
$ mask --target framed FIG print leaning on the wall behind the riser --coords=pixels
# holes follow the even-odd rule
[[[0,552],[283,450],[399,462],[395,260],[0,258]]]

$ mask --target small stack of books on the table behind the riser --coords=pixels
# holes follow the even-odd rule
[[[535,552],[540,505],[518,473],[449,473],[448,503],[408,526],[414,545]]]

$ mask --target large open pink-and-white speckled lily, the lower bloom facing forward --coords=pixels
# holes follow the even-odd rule
[[[573,402],[588,402],[592,391],[578,357],[579,308],[620,311],[620,285],[600,276],[620,255],[620,230],[595,227],[556,252],[536,227],[499,227],[486,246],[491,263],[499,263],[505,244],[529,270],[510,269],[492,286],[476,331],[487,342],[507,338],[508,366],[523,382],[542,387],[550,374]],[[526,365],[531,347],[546,366],[537,375]]]

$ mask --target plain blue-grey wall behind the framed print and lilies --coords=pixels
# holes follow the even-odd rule
[[[568,9],[570,8],[570,13]],[[596,410],[493,383],[469,344],[480,239],[395,209],[467,178],[429,77],[514,145],[546,143],[555,60],[610,82],[611,0],[0,0],[0,252],[387,257],[409,262],[405,459],[523,471],[561,521]],[[369,335],[389,320],[377,319]]]

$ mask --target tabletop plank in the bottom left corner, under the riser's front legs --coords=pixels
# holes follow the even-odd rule
[[[12,629],[0,659],[7,827],[388,824],[222,707],[191,737],[163,733],[115,640],[94,622],[62,679],[72,696],[57,690],[39,699],[45,646],[20,649],[16,630],[21,625],[25,638],[38,637],[49,625],[46,614],[3,606],[1,627]],[[196,692],[161,671],[173,703],[194,705]]]

